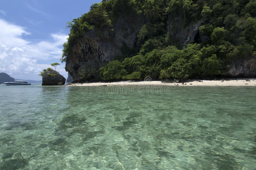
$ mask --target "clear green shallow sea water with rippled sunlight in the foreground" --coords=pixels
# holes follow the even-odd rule
[[[106,90],[0,85],[0,169],[255,169],[254,87]]]

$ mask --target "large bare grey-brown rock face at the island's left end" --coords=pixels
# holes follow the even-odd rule
[[[120,16],[113,29],[97,29],[87,32],[84,38],[77,40],[72,55],[66,61],[66,71],[75,82],[97,79],[97,70],[122,55],[121,47],[125,43],[132,48],[136,43],[139,30],[144,25],[141,15],[135,20]]]

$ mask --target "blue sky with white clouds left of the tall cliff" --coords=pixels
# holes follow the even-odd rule
[[[69,33],[66,24],[100,1],[0,1],[0,73],[15,79],[42,80],[38,74],[58,62],[56,70],[67,78],[65,63],[60,62]]]

